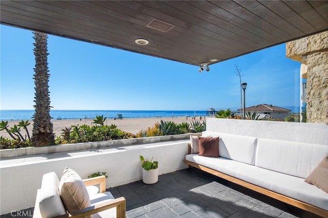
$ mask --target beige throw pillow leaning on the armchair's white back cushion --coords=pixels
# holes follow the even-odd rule
[[[71,214],[74,214],[74,211],[90,207],[89,194],[81,177],[67,167],[59,182],[59,194],[65,208]],[[92,218],[92,216],[88,216],[88,218]]]

